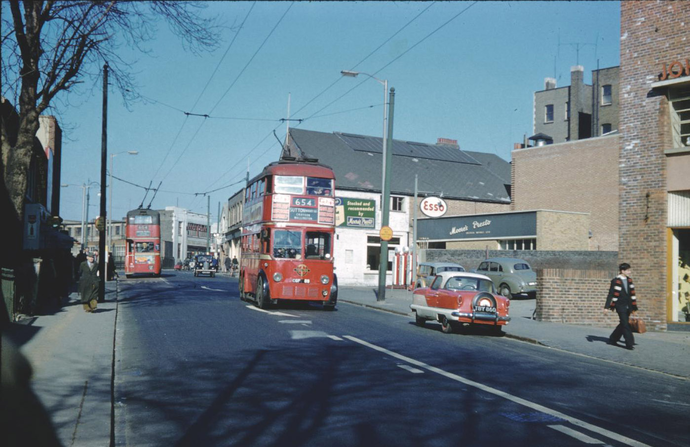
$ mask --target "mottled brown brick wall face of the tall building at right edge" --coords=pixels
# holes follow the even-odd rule
[[[662,63],[688,56],[689,1],[622,1],[619,259],[653,321],[667,321],[669,103],[651,89]]]

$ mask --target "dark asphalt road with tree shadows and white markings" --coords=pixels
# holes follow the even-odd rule
[[[117,446],[690,446],[690,386],[341,303],[266,311],[226,275],[121,285]]]

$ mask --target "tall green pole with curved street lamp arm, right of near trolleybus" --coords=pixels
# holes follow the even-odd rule
[[[381,228],[388,226],[389,210],[391,208],[391,148],[388,142],[393,139],[393,98],[395,97],[395,89],[391,88],[390,99],[386,103],[386,95],[388,95],[388,79],[378,79],[371,74],[364,72],[355,72],[351,70],[342,70],[340,72],[343,76],[357,77],[357,74],[364,74],[365,76],[374,79],[384,86],[384,126],[383,126],[383,150],[382,150],[382,166],[381,166]],[[386,300],[386,272],[388,270],[388,241],[381,238],[381,250],[379,253],[379,292],[377,301]]]

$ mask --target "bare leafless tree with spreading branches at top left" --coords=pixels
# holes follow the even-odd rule
[[[5,3],[5,2],[3,2]],[[21,240],[21,222],[39,115],[56,100],[101,75],[108,63],[110,77],[125,101],[137,97],[132,63],[118,49],[146,52],[160,19],[168,23],[186,50],[213,50],[218,42],[214,19],[199,14],[196,1],[18,1],[2,7],[2,93],[19,107],[16,142],[8,135],[3,115],[1,170],[3,212]],[[9,10],[9,14],[8,14]],[[16,237],[15,237],[16,236]],[[14,238],[14,239],[12,239]]]

